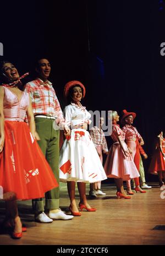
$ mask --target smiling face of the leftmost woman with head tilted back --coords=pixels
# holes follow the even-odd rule
[[[15,81],[19,78],[17,68],[15,68],[14,65],[10,62],[4,63],[2,72],[10,81]]]

